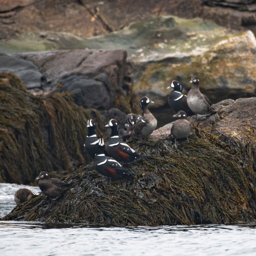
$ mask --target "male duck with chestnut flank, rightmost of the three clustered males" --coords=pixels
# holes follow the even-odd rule
[[[111,128],[111,135],[105,145],[106,152],[110,157],[123,162],[132,162],[140,157],[147,157],[136,153],[135,150],[119,139],[116,119],[110,119],[105,126]]]

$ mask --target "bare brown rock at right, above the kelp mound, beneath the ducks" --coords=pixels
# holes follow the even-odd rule
[[[205,120],[195,121],[195,117],[188,117],[193,127],[205,130],[217,136],[232,138],[234,141],[246,145],[256,145],[256,98],[240,98],[237,100],[223,100],[213,105],[217,113]],[[165,139],[170,136],[172,124],[167,124],[155,130],[151,139]],[[252,162],[256,159],[251,159]]]

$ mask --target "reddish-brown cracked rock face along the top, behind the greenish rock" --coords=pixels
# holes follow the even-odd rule
[[[255,30],[256,24],[255,3],[244,0],[4,0],[0,7],[0,39],[31,31],[42,31],[41,37],[46,36],[44,31],[92,37],[160,15],[201,17],[234,29],[250,26]],[[51,44],[51,39],[48,42]]]

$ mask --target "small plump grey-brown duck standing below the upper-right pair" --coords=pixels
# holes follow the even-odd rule
[[[175,138],[175,144],[174,147],[177,147],[176,145],[176,139],[185,139],[187,138],[191,132],[191,126],[189,121],[187,120],[187,114],[185,111],[179,111],[176,115],[173,117],[178,117],[179,119],[176,120],[171,128],[171,134]]]

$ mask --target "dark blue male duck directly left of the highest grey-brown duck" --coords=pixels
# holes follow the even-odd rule
[[[183,110],[187,113],[187,116],[193,116],[194,113],[188,107],[187,96],[182,94],[182,84],[179,81],[173,80],[171,85],[167,89],[173,88],[173,91],[169,93],[168,102],[170,107],[177,113]]]

